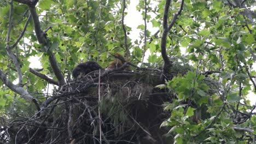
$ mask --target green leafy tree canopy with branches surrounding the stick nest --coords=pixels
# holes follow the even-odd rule
[[[256,104],[247,99],[256,89],[255,1],[139,0],[136,8],[145,23],[136,29],[138,38],[124,25],[129,3],[0,2],[3,132],[13,121],[30,121],[38,109],[34,103],[53,96],[49,85],[65,86],[79,62],[107,67],[113,61],[109,53],[119,52],[141,68],[164,65],[162,72],[174,75],[158,85],[176,95],[163,107],[170,113],[161,124],[170,130],[166,137],[176,143],[255,143]],[[159,31],[152,33],[148,23]],[[34,57],[42,69],[30,69]]]

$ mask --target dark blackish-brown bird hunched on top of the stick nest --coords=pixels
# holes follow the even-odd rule
[[[95,61],[88,61],[84,63],[79,63],[77,67],[75,67],[72,71],[72,75],[74,79],[77,79],[79,75],[86,75],[91,71],[102,69],[101,65],[99,65]]]

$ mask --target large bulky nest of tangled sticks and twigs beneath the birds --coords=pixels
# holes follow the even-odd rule
[[[42,110],[11,123],[10,141],[18,143],[162,143],[160,124],[170,117],[162,104],[172,101],[160,74],[93,71],[57,89]]]

